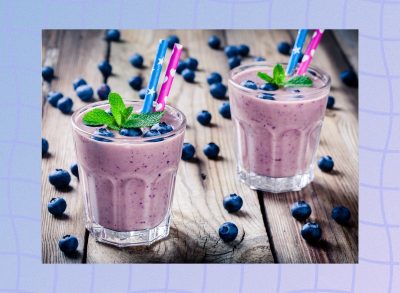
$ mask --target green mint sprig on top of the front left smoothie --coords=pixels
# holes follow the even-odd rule
[[[118,93],[110,93],[108,102],[111,106],[111,113],[103,109],[93,109],[87,112],[82,121],[89,126],[106,125],[109,129],[119,131],[121,128],[151,127],[160,122],[165,111],[151,113],[134,113],[133,107],[126,107]]]

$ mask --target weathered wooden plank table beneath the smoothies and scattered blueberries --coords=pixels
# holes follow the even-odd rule
[[[109,57],[113,76],[108,84],[125,99],[138,99],[138,92],[128,79],[143,74],[145,82],[151,70],[158,39],[176,33],[185,46],[183,58],[199,60],[196,83],[175,78],[169,103],[183,110],[188,119],[185,141],[197,148],[197,162],[181,162],[173,200],[173,221],[170,236],[150,247],[118,249],[97,243],[84,227],[84,208],[79,182],[73,178],[72,189],[62,193],[48,182],[55,168],[69,170],[75,161],[70,115],[63,115],[46,103],[49,90],[59,90],[74,100],[74,110],[85,103],[77,98],[72,81],[84,77],[93,88],[102,82],[97,63]],[[357,90],[344,86],[339,73],[349,67],[357,69],[357,32],[327,31],[315,55],[313,65],[323,68],[332,77],[335,109],[327,110],[318,155],[331,155],[335,170],[324,174],[316,168],[312,184],[300,192],[271,194],[257,192],[240,183],[236,177],[234,129],[231,120],[218,113],[221,101],[209,94],[206,76],[212,71],[222,74],[227,84],[228,65],[223,51],[207,46],[210,35],[218,35],[223,45],[249,44],[252,56],[263,56],[273,62],[285,62],[287,56],[276,50],[280,41],[291,41],[295,31],[230,30],[230,31],[122,31],[122,41],[107,48],[104,31],[69,30],[43,32],[43,64],[52,65],[57,79],[43,83],[42,136],[50,144],[50,155],[42,160],[42,257],[44,263],[354,263],[358,261],[358,100]],[[146,68],[131,66],[129,57],[138,52],[145,58]],[[169,53],[170,54],[170,51]],[[246,58],[244,62],[251,61]],[[212,113],[213,125],[201,126],[196,114],[203,109]],[[221,147],[222,159],[208,160],[202,148],[208,142]],[[229,214],[222,199],[230,193],[240,194],[244,205],[240,212]],[[47,202],[63,196],[68,203],[65,217],[54,218],[47,212]],[[290,214],[290,205],[306,200],[312,207],[311,218],[323,229],[323,241],[308,245],[300,236],[302,224]],[[345,205],[352,213],[348,226],[336,224],[330,217],[336,205]],[[232,243],[224,243],[218,227],[232,221],[239,235]],[[65,234],[79,239],[78,253],[66,257],[58,249],[58,240]]]

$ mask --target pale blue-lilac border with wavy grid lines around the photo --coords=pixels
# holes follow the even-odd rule
[[[112,4],[113,2],[113,4]],[[400,1],[0,1],[0,292],[400,292]],[[359,265],[42,265],[42,28],[360,29]]]

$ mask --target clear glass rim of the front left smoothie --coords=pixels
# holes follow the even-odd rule
[[[143,104],[142,101],[137,101],[137,100],[136,101],[135,100],[124,100],[124,103],[126,105],[129,105],[131,103],[139,104],[139,105]],[[95,135],[95,134],[93,134],[93,133],[91,133],[89,131],[86,131],[86,130],[82,129],[76,123],[76,119],[80,114],[82,114],[83,112],[86,112],[87,110],[89,110],[91,108],[96,108],[96,107],[103,106],[103,105],[109,105],[108,100],[90,103],[88,105],[84,105],[84,106],[80,107],[78,110],[75,110],[74,113],[71,116],[71,124],[72,124],[73,130],[77,131],[77,132],[79,132],[81,134],[85,134],[88,137],[94,137],[94,138],[99,138],[99,139],[106,140],[106,141],[101,141],[101,140],[98,141],[98,140],[96,140],[97,142],[107,142],[107,143],[110,143],[110,142],[123,142],[123,143],[132,143],[132,144],[137,143],[137,144],[139,144],[139,143],[148,143],[148,142],[156,143],[156,142],[158,142],[158,141],[156,141],[157,139],[172,138],[176,134],[179,134],[179,133],[183,132],[185,130],[185,128],[186,128],[186,121],[187,120],[186,120],[185,114],[182,111],[180,111],[179,109],[177,109],[177,108],[175,108],[173,106],[170,106],[170,105],[166,105],[165,106],[165,110],[167,111],[167,113],[168,112],[172,112],[172,114],[181,115],[182,118],[179,119],[180,123],[179,123],[178,127],[174,128],[172,131],[164,133],[164,134],[161,134],[161,135],[157,135],[157,136],[151,136],[151,137],[143,137],[143,136],[108,137],[108,136],[102,136],[102,135]],[[176,115],[174,115],[174,116],[176,116]],[[100,126],[94,126],[94,127],[100,127]],[[104,127],[104,125],[101,126],[101,127]],[[104,127],[104,128],[106,128],[106,127]],[[162,140],[160,140],[159,142],[162,142]]]

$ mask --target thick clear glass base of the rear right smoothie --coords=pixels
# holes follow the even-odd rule
[[[251,189],[272,193],[299,191],[314,179],[314,167],[311,166],[307,173],[292,177],[268,177],[244,170],[238,166],[239,179]]]

